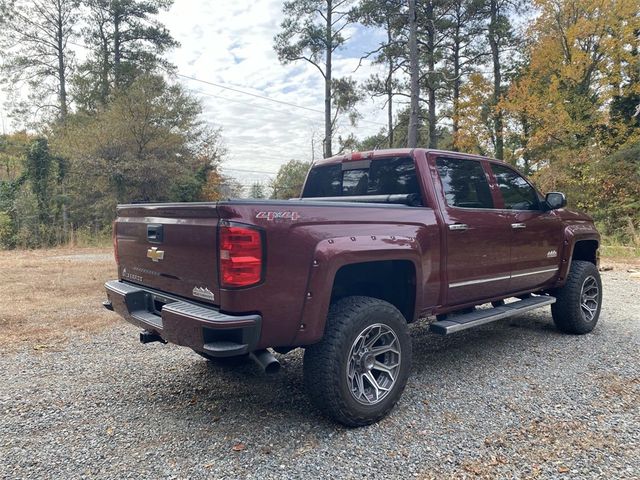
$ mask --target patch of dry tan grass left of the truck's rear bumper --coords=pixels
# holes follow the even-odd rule
[[[0,251],[0,348],[55,349],[118,322],[102,308],[111,249]]]

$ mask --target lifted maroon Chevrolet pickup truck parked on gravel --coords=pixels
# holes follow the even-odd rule
[[[304,382],[350,426],[384,417],[411,369],[407,324],[449,335],[551,305],[590,332],[602,286],[593,221],[511,166],[425,149],[313,164],[288,201],[118,206],[105,307],[215,359],[303,347]]]

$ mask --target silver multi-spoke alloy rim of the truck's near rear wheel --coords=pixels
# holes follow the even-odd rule
[[[375,405],[391,392],[400,372],[400,341],[387,325],[369,325],[356,337],[349,352],[347,381],[353,398]]]

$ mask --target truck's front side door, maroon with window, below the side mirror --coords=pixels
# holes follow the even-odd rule
[[[522,175],[506,165],[489,165],[500,191],[499,206],[511,228],[509,290],[533,290],[558,274],[562,221],[544,210],[541,196]]]

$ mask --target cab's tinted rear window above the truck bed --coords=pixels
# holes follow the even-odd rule
[[[387,157],[314,167],[303,197],[419,194],[411,157]]]

